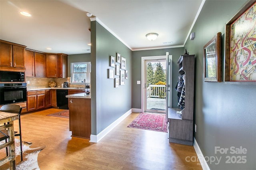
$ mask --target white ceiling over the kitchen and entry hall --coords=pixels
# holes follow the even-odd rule
[[[204,0],[0,0],[0,39],[50,53],[90,53],[90,12],[131,50],[183,47]],[[20,15],[20,11],[31,17]],[[158,33],[155,41],[146,34]],[[196,35],[195,35],[196,36]],[[166,43],[172,42],[172,43]],[[50,47],[52,50],[47,50]]]

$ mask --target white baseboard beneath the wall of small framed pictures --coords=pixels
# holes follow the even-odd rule
[[[106,136],[106,134],[108,134],[113,128],[115,128],[119,123],[121,123],[126,117],[128,117],[128,115],[130,115],[132,113],[132,109],[130,109],[129,111],[127,111],[126,113],[124,113],[124,115],[122,115],[121,117],[119,117],[118,119],[116,119],[116,121],[114,121],[113,123],[111,123],[108,127],[104,128],[104,130],[102,130],[100,133],[98,133],[97,135],[91,134],[90,135],[90,141],[89,142],[94,142],[94,143],[98,143],[104,136]]]

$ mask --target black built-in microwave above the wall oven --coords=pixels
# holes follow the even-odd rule
[[[25,72],[20,71],[0,71],[1,82],[24,82]]]

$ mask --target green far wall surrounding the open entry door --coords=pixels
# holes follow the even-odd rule
[[[166,49],[152,49],[132,52],[132,108],[141,109],[141,85],[137,85],[137,81],[141,79],[141,57],[172,55],[172,107],[177,107],[177,92],[174,89],[178,80],[178,59],[180,55],[184,54],[183,47],[180,48],[166,48]]]

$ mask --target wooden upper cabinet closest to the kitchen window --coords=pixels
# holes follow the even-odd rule
[[[60,53],[58,56],[58,78],[68,77],[68,55]]]

